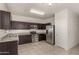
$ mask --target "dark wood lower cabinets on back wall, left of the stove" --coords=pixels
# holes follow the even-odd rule
[[[26,43],[32,43],[31,35],[19,35],[19,45]]]

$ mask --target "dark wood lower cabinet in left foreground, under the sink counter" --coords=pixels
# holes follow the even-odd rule
[[[17,41],[0,43],[0,55],[17,55],[17,54],[18,54]]]

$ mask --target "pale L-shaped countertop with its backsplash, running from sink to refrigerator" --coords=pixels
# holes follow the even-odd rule
[[[46,34],[45,30],[12,30],[0,36],[0,42],[19,41],[18,35],[31,35],[31,31],[36,31],[37,34]]]

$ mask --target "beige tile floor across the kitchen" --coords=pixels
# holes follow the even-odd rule
[[[79,55],[79,46],[76,46],[69,51],[65,51],[63,48],[50,45],[45,41],[36,43],[29,43],[19,45],[19,55]]]

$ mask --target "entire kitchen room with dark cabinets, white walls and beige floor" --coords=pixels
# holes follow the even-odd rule
[[[79,54],[79,16],[72,6],[78,8],[61,3],[0,4],[0,55]]]

